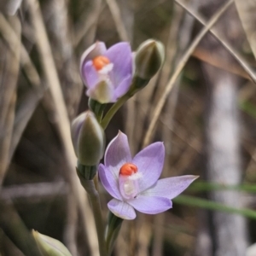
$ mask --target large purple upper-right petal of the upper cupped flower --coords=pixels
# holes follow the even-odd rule
[[[105,55],[113,63],[113,82],[116,86],[119,86],[127,74],[132,73],[131,46],[126,42],[114,44]]]

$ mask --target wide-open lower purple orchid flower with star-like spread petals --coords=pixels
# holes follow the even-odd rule
[[[153,143],[134,158],[127,137],[119,131],[108,144],[105,165],[99,166],[102,185],[113,199],[108,208],[119,218],[136,218],[139,212],[156,214],[172,208],[179,195],[197,176],[186,175],[159,179],[164,166],[165,147]]]

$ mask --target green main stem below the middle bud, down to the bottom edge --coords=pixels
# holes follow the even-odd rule
[[[86,190],[95,224],[96,224],[96,232],[97,232],[97,237],[98,237],[98,243],[99,243],[99,250],[100,250],[100,255],[101,256],[108,256],[107,250],[106,250],[106,242],[104,238],[104,222],[102,219],[102,207],[101,207],[101,201],[100,201],[100,195],[98,191],[96,190],[95,183],[93,180],[86,180],[82,174],[77,170],[80,182],[84,189]]]

